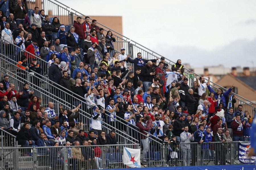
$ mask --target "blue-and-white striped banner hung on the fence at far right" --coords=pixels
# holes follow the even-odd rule
[[[238,160],[242,163],[254,163],[255,162],[255,156],[248,156],[249,150],[251,148],[251,142],[250,141],[244,141],[239,143],[239,156]]]

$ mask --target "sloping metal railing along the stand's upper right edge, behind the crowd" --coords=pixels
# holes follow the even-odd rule
[[[28,1],[28,7],[31,9],[34,9],[35,7],[35,3],[33,3],[34,1],[29,0]],[[57,1],[57,0],[44,0],[42,2],[42,8],[44,8],[46,14],[49,15],[49,17],[53,18],[55,16],[57,16],[58,18],[61,19],[61,22],[67,24],[67,25],[72,25],[73,21],[76,19],[76,17],[80,16],[82,18],[85,18],[86,15],[82,14],[81,12],[68,7],[67,5]],[[65,17],[64,17],[65,16]],[[90,18],[90,20],[92,20],[93,18]],[[84,20],[82,20],[82,22],[84,22]],[[136,57],[138,52],[141,52],[143,58],[145,59],[160,59],[161,57],[164,57],[162,55],[160,55],[159,53],[150,50],[149,48],[143,46],[142,44],[139,44],[136,41],[133,41],[132,39],[129,39],[128,37],[122,35],[121,33],[118,33],[117,31],[111,29],[110,27],[103,25],[99,22],[97,22],[99,27],[104,28],[104,35],[106,35],[107,31],[110,30],[112,31],[112,33],[115,34],[115,39],[116,42],[114,43],[114,48],[115,51],[117,51],[118,53],[120,53],[120,48],[124,47],[125,49],[128,49],[127,52],[128,54],[130,54],[132,57]],[[68,28],[68,26],[67,26]],[[173,65],[176,62],[165,58],[166,63]],[[194,73],[193,71],[186,69],[185,68],[185,74],[189,75],[189,74],[194,74],[195,76],[201,76],[198,75],[196,73]],[[189,86],[193,86],[193,82],[196,80],[196,77],[192,77],[189,78]],[[205,80],[207,80],[207,78],[205,78]],[[231,86],[232,84],[230,84]],[[211,82],[211,86],[214,90],[217,90],[218,88],[222,88],[224,90],[227,90],[226,88]],[[236,99],[238,100],[238,102],[236,102],[235,106],[237,106],[238,104],[242,104],[244,106],[243,110],[248,110],[249,112],[251,112],[252,114],[255,114],[255,103],[249,101],[248,99],[245,99],[244,97],[233,93],[234,95],[236,95]],[[237,108],[236,108],[237,109]],[[236,111],[236,110],[235,110]]]

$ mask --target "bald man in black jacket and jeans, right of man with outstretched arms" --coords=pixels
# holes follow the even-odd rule
[[[143,91],[144,92],[152,84],[154,75],[156,74],[155,68],[152,67],[152,65],[153,65],[152,61],[148,61],[148,63],[142,69],[141,76],[143,78],[142,81],[143,81]]]

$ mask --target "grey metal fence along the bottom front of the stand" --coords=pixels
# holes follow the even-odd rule
[[[149,143],[141,167],[238,165],[239,142],[180,143],[155,147]],[[123,164],[123,147],[141,149],[139,144],[80,146],[6,147],[0,150],[2,169],[117,169]],[[248,162],[248,164],[253,164]]]

